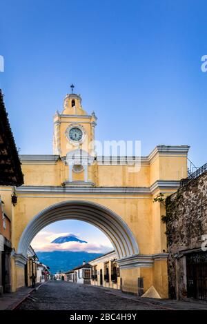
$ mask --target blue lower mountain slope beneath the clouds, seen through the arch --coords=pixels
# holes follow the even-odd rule
[[[37,252],[39,261],[48,265],[52,274],[59,272],[59,270],[66,272],[83,264],[83,261],[87,263],[101,255],[103,254],[72,251]]]

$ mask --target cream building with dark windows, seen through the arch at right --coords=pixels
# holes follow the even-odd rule
[[[115,251],[103,254],[89,261],[92,265],[91,284],[107,288],[121,289],[120,269]]]

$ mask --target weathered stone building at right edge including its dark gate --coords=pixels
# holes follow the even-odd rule
[[[170,297],[207,301],[207,163],[166,199]]]

